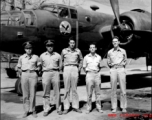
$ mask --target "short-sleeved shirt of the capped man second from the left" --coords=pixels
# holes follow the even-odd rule
[[[42,71],[60,70],[62,65],[61,56],[57,52],[53,52],[52,54],[49,52],[42,53],[40,62]]]

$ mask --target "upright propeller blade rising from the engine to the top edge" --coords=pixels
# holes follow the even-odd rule
[[[118,25],[120,25],[118,0],[110,0],[110,3],[111,3],[112,10],[114,12],[114,15],[115,15],[115,17],[117,19]]]

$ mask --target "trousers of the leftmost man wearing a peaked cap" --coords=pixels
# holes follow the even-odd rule
[[[35,111],[35,99],[38,76],[36,72],[22,72],[21,87],[23,91],[23,108],[25,112]]]

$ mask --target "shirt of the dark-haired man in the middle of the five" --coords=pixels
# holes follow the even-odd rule
[[[82,53],[78,48],[71,51],[70,48],[65,48],[62,50],[61,58],[63,61],[63,66],[76,65],[82,67],[83,57]]]

